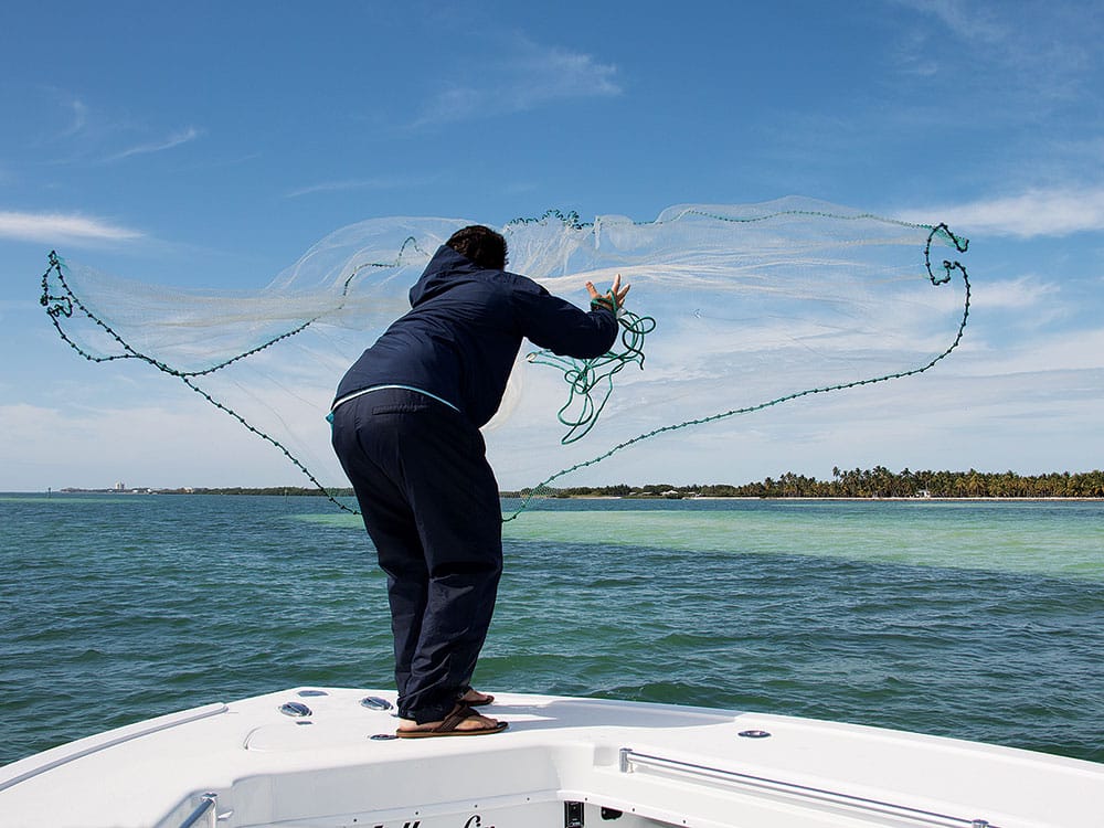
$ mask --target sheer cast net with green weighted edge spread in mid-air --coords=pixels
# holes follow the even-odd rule
[[[325,421],[338,381],[408,309],[438,246],[473,223],[353,224],[251,294],[171,290],[52,255],[42,304],[86,359],[148,363],[329,492],[348,486]],[[606,357],[522,346],[485,431],[501,488],[526,502],[678,478],[707,455],[723,481],[745,481],[726,446],[747,415],[931,370],[969,315],[966,241],[946,225],[808,199],[680,205],[649,222],[551,212],[501,231],[510,270],[581,307],[587,280],[633,286]]]

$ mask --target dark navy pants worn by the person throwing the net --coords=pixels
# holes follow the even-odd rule
[[[388,575],[399,715],[439,721],[469,687],[502,573],[482,435],[437,400],[381,389],[333,412],[333,449]]]

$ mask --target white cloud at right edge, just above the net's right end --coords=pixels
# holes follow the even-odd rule
[[[932,216],[967,235],[989,233],[1034,238],[1100,232],[1104,231],[1104,185],[1028,190],[1019,195],[909,211],[900,217],[931,221]]]

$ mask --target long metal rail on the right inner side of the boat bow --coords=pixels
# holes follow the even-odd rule
[[[620,750],[619,767],[622,773],[634,773],[638,767],[650,768],[660,773],[670,772],[682,778],[710,779],[732,785],[735,788],[754,789],[756,792],[766,790],[790,799],[815,800],[819,805],[829,805],[847,810],[862,810],[868,814],[877,813],[907,819],[920,825],[940,826],[941,828],[1000,828],[987,819],[951,816],[922,808],[912,808],[906,805],[856,796],[853,794],[799,785],[794,782],[697,765],[691,762],[665,758],[662,756],[652,756],[647,753],[638,753],[631,747],[623,747]]]

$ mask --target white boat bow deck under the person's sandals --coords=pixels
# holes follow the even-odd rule
[[[401,740],[393,703],[297,688],[83,739],[0,767],[0,826],[1104,826],[1104,765],[1030,751],[511,693],[502,733]]]

